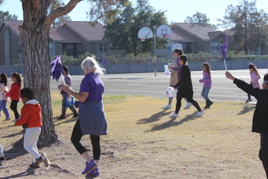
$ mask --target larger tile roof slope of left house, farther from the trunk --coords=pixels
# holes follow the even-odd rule
[[[65,24],[88,41],[101,41],[104,37],[104,27],[99,22],[65,21],[62,27]]]

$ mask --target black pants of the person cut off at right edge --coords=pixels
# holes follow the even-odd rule
[[[259,158],[262,161],[266,176],[268,176],[268,135],[261,136]]]

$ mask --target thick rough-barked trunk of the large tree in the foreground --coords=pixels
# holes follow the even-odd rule
[[[24,54],[24,87],[34,92],[42,113],[42,128],[38,144],[60,141],[55,131],[50,97],[49,26],[45,24],[49,3],[21,0],[24,13],[19,27],[21,50]]]

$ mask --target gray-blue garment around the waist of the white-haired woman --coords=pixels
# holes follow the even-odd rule
[[[107,121],[102,101],[80,102],[79,123],[83,135],[107,135]]]

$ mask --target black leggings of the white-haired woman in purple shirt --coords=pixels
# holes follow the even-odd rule
[[[82,131],[80,128],[79,118],[77,119],[74,129],[71,135],[71,142],[73,143],[74,147],[77,149],[77,151],[82,154],[87,151],[85,146],[80,141],[82,138]],[[100,144],[99,144],[99,135],[90,135],[90,140],[92,144],[92,150],[93,150],[93,158],[94,160],[99,160],[100,158]]]

